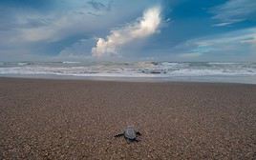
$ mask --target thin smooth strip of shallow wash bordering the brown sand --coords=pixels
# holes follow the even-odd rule
[[[179,77],[115,77],[115,76],[74,76],[74,75],[0,75],[0,78],[45,79],[45,80],[84,80],[106,82],[142,83],[221,83],[256,85],[256,76],[179,76]]]

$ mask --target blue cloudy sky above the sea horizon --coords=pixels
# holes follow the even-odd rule
[[[256,61],[255,0],[1,0],[0,61]]]

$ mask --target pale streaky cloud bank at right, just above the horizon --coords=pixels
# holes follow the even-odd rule
[[[214,36],[192,39],[177,46],[181,58],[203,60],[253,60],[256,56],[256,28],[235,30]],[[212,59],[213,58],[213,59]]]

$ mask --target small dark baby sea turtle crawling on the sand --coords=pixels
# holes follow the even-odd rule
[[[141,135],[139,131],[135,130],[131,126],[128,126],[122,133],[115,135],[115,137],[124,136],[128,142],[139,142],[138,135]]]

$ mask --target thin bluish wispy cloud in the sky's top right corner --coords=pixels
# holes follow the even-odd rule
[[[256,13],[255,0],[228,0],[223,5],[214,7],[210,10],[214,14],[212,17],[221,23],[215,24],[215,27],[223,27],[239,23],[250,19],[251,15]]]

